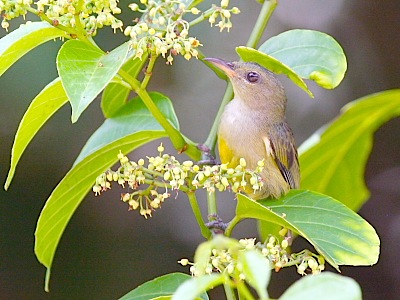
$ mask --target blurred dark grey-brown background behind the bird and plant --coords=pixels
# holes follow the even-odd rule
[[[234,47],[244,45],[254,24],[256,1],[231,1],[242,13],[232,18],[228,34],[202,24],[193,28],[207,56],[236,60]],[[121,1],[127,5],[127,1]],[[128,19],[127,19],[128,20]],[[126,20],[126,21],[127,21]],[[15,23],[12,29],[17,28]],[[320,126],[335,117],[347,102],[370,93],[400,87],[400,1],[398,0],[281,0],[263,40],[294,28],[315,29],[335,37],[348,58],[348,72],[335,90],[311,84],[315,99],[281,78],[289,99],[288,121],[300,145]],[[5,33],[1,32],[0,36]],[[124,37],[104,29],[96,41],[113,49]],[[30,101],[57,76],[55,57],[61,43],[48,42],[31,51],[0,78],[0,179],[4,183],[14,134]],[[177,58],[172,67],[160,60],[151,90],[168,95],[175,104],[183,132],[195,141],[205,140],[215,117],[225,83],[201,62]],[[45,269],[33,253],[39,213],[53,188],[71,167],[88,137],[102,123],[99,101],[76,124],[65,106],[41,130],[20,161],[9,191],[0,191],[0,298],[1,299],[115,299],[137,285],[173,271],[187,272],[177,264],[192,258],[202,241],[185,197],[169,199],[153,218],[128,212],[119,201],[120,189],[101,197],[89,195],[68,225],[56,253],[51,292],[43,291]],[[379,263],[370,267],[344,267],[355,278],[364,299],[397,299],[400,284],[400,119],[375,135],[367,166],[370,201],[360,214],[372,223],[382,240]],[[174,153],[169,146],[167,150]],[[159,142],[130,157],[156,154]],[[186,157],[182,156],[182,159]],[[205,196],[200,196],[205,202]],[[222,217],[234,211],[233,195],[221,195]],[[205,205],[203,205],[205,208]],[[255,223],[244,222],[236,237],[256,235]],[[300,243],[298,241],[297,243]],[[303,245],[304,246],[304,245]],[[299,278],[294,268],[273,275],[271,297]],[[215,299],[222,299],[218,291]]]

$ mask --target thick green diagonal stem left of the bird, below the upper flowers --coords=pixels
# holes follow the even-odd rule
[[[197,146],[193,142],[185,139],[181,132],[165,118],[164,114],[153,102],[153,99],[151,99],[147,90],[141,87],[141,83],[123,69],[120,69],[118,73],[127,83],[129,83],[131,88],[136,92],[136,94],[138,94],[143,103],[152,113],[153,117],[164,128],[165,132],[171,139],[171,142],[174,145],[175,149],[177,149],[179,153],[185,152],[190,158],[194,160],[199,160],[201,157],[201,152],[197,148]]]

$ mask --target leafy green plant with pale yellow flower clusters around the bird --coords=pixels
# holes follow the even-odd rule
[[[190,265],[192,277],[168,274],[145,283],[122,299],[208,299],[204,292],[223,285],[228,299],[268,299],[267,285],[271,269],[296,266],[299,274],[319,274],[325,261],[339,270],[340,265],[373,265],[379,256],[379,238],[374,228],[354,211],[368,198],[364,170],[371,151],[373,133],[384,122],[400,114],[400,90],[369,95],[348,104],[341,115],[323,130],[317,131],[300,147],[303,190],[289,192],[281,199],[255,202],[241,194],[246,185],[253,190],[262,186],[256,170],[239,166],[208,166],[194,161],[214,153],[220,113],[202,147],[179,129],[172,101],[162,93],[149,92],[157,59],[172,65],[181,55],[187,60],[204,58],[201,42],[191,36],[191,28],[208,21],[220,31],[233,26],[231,18],[240,13],[229,0],[215,1],[200,11],[202,0],[140,0],[132,2],[132,13],[140,13],[134,24],[125,26],[117,15],[116,0],[31,0],[1,1],[2,27],[26,14],[35,14],[40,22],[27,22],[0,40],[0,75],[19,58],[40,44],[60,38],[65,42],[57,56],[59,77],[49,83],[26,111],[12,147],[12,159],[5,183],[8,189],[18,162],[36,133],[67,102],[76,122],[85,109],[102,93],[101,108],[105,121],[89,138],[74,165],[54,189],[43,208],[35,233],[35,254],[47,268],[45,289],[49,290],[50,270],[61,236],[83,201],[93,190],[100,194],[113,182],[128,187],[121,200],[132,210],[149,217],[170,197],[172,190],[186,193],[201,233],[207,240],[199,245]],[[305,81],[313,80],[322,88],[333,89],[342,81],[347,62],[340,45],[330,36],[313,30],[290,30],[265,41],[260,37],[276,5],[276,0],[259,1],[260,13],[246,45],[237,47],[244,61],[255,61],[277,74],[287,75],[311,97]],[[127,41],[110,52],[102,50],[95,35],[104,26],[124,28]],[[218,76],[224,74],[206,61]],[[141,70],[146,65],[144,75]],[[130,92],[137,96],[128,99]],[[221,109],[232,97],[232,87],[221,101]],[[129,161],[127,153],[150,141],[169,137],[178,153],[192,160],[180,162],[175,156],[159,155],[147,162]],[[208,149],[209,152],[205,151]],[[110,167],[119,160],[116,170]],[[209,194],[208,223],[204,221],[196,190]],[[306,190],[309,189],[309,190]],[[216,191],[237,193],[236,214],[227,225],[217,217]],[[166,204],[165,204],[166,205]],[[353,211],[354,210],[354,211]],[[267,222],[263,240],[230,238],[235,226],[245,218]],[[266,228],[271,224],[279,232]],[[223,230],[224,235],[215,235]],[[267,232],[265,232],[267,230]],[[304,249],[291,252],[291,235],[307,239],[316,253]],[[337,286],[340,291],[337,292]],[[307,276],[290,287],[280,299],[307,297],[360,299],[359,286],[351,279],[322,272]]]

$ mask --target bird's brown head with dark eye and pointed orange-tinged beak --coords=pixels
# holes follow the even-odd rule
[[[284,118],[286,95],[273,73],[252,62],[228,62],[219,58],[205,58],[221,69],[231,80],[235,99],[256,110],[268,110]]]

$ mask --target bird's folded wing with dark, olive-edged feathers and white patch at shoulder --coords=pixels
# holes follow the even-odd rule
[[[292,189],[300,186],[300,167],[293,133],[286,123],[276,125],[273,134],[264,139],[267,152],[272,154],[283,178]],[[268,145],[269,144],[269,145]]]

